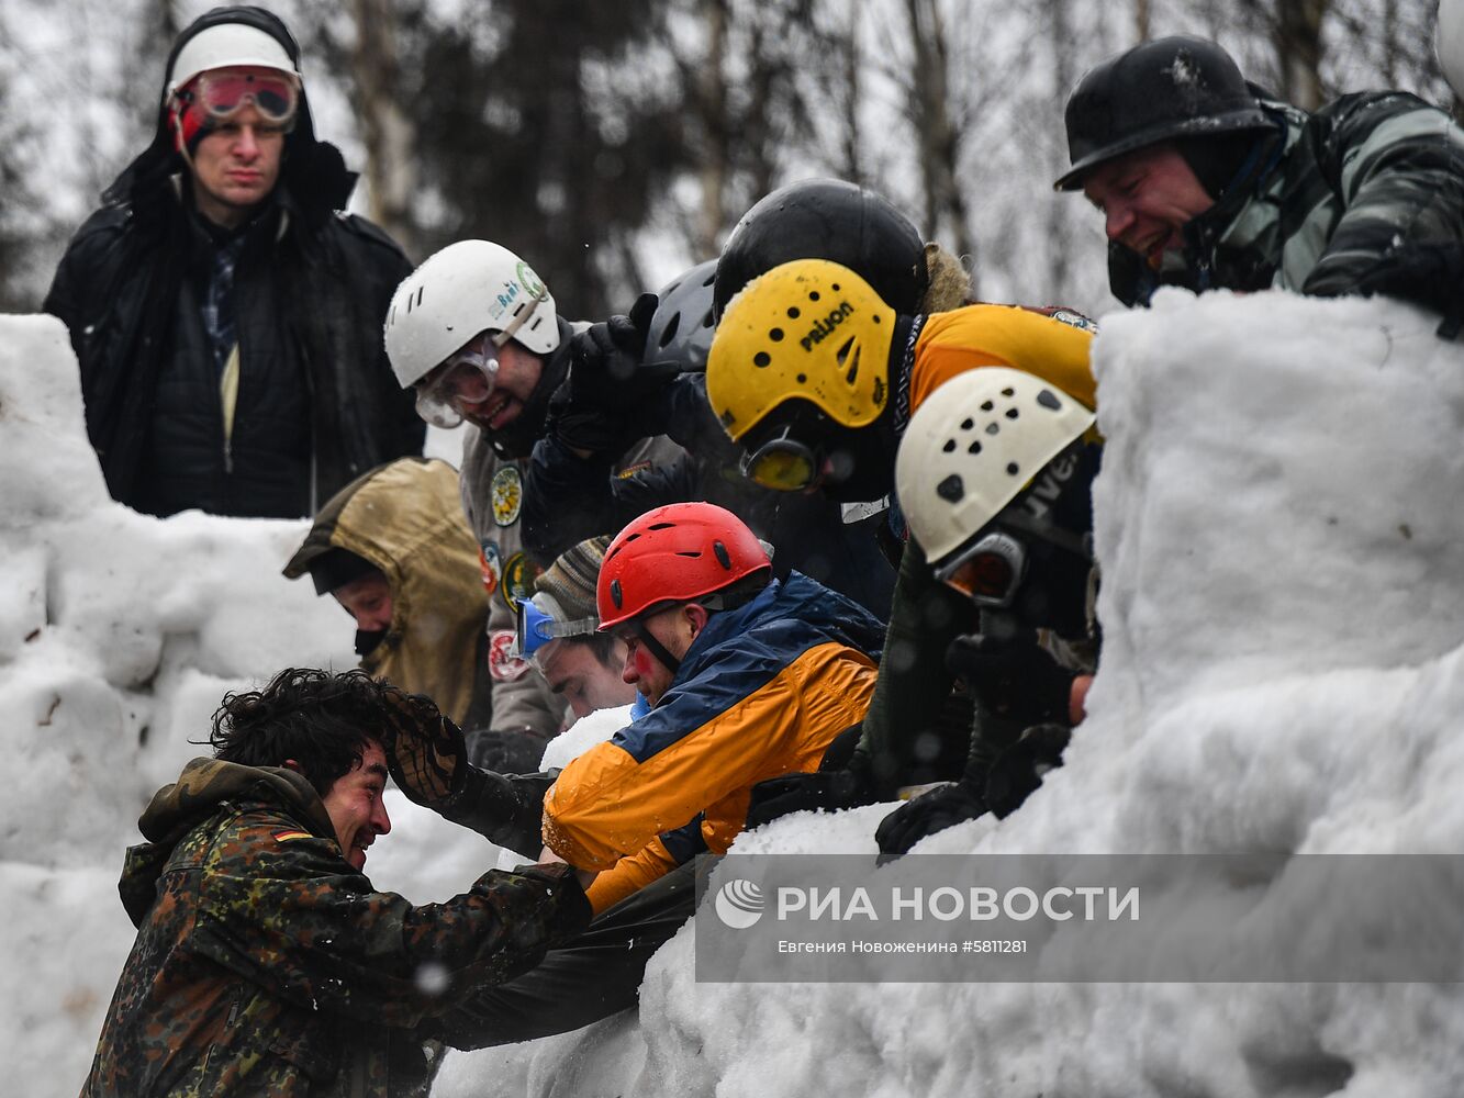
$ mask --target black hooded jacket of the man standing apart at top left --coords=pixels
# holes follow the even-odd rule
[[[179,35],[168,69],[220,23],[265,31],[299,66],[278,18],[218,7]],[[237,234],[223,234],[192,209],[160,105],[152,143],[102,193],[45,299],[70,329],[86,432],[114,499],[157,515],[303,517],[373,466],[422,452],[425,426],[382,343],[411,266],[379,228],[337,212],[354,183],[340,151],[316,139],[302,91],[280,183]],[[225,439],[201,306],[215,250],[240,234],[240,379]]]

